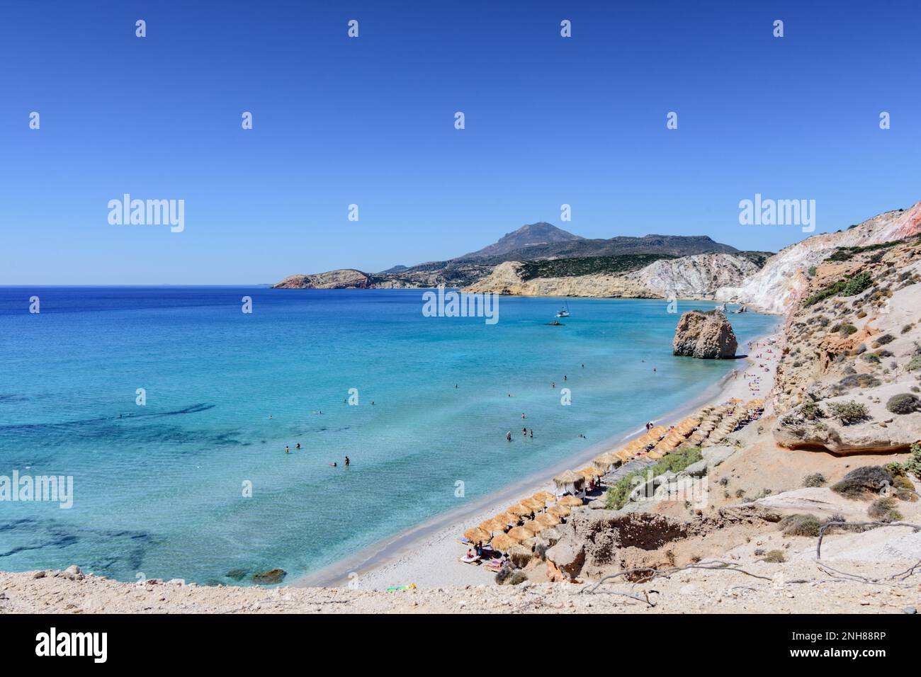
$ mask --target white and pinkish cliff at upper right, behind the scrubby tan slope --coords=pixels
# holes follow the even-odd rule
[[[768,312],[786,312],[810,285],[810,266],[822,263],[839,247],[865,247],[921,232],[921,203],[874,216],[839,233],[804,239],[779,251],[759,272],[738,285],[717,289],[721,301],[748,303]]]

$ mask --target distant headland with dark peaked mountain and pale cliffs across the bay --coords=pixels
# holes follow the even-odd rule
[[[760,269],[769,251],[739,251],[705,235],[587,239],[541,222],[448,261],[379,273],[344,268],[295,274],[279,289],[462,287],[522,296],[708,298]],[[563,280],[562,284],[554,281]]]

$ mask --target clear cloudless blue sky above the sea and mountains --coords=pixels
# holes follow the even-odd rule
[[[379,271],[541,220],[775,251],[805,236],[740,200],[814,199],[821,232],[921,199],[919,29],[909,2],[6,0],[0,284]],[[185,231],[111,226],[122,193],[184,199]]]

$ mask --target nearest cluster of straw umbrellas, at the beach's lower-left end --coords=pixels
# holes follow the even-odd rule
[[[548,508],[548,503],[554,505]],[[463,536],[472,543],[488,543],[493,550],[506,552],[513,545],[526,543],[541,531],[555,527],[569,517],[571,508],[581,505],[582,499],[576,496],[557,498],[549,491],[539,491],[464,531]]]

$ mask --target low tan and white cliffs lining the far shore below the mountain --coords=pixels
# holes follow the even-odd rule
[[[523,279],[524,263],[510,261],[467,287],[468,292],[495,292],[516,296],[600,298],[712,298],[719,286],[740,284],[758,266],[737,254],[695,254],[660,259],[624,274],[588,274],[571,277]]]

